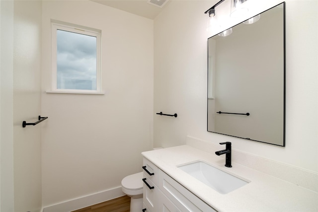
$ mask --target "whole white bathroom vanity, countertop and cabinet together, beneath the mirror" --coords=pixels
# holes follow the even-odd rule
[[[225,167],[225,157],[215,155],[214,148],[181,145],[143,152],[146,212],[318,211],[317,192],[236,162]],[[198,161],[245,183],[223,192],[181,168],[193,169],[187,165]]]

